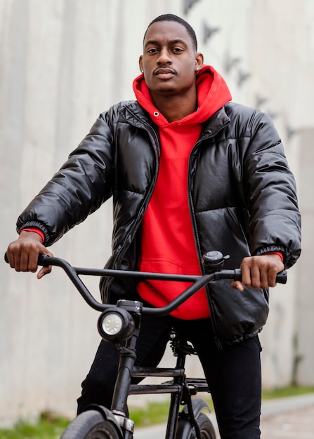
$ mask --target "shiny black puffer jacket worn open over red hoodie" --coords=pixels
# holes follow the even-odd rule
[[[135,101],[100,117],[63,168],[18,218],[18,231],[39,227],[46,245],[82,222],[112,196],[112,257],[106,266],[136,269],[136,233],[155,186],[157,127]],[[189,201],[199,260],[209,250],[243,257],[280,251],[292,266],[300,254],[295,182],[269,116],[229,102],[204,123],[190,154]],[[201,262],[200,262],[201,264]],[[135,285],[103,279],[105,302],[131,297]],[[268,291],[238,292],[230,281],[209,287],[218,344],[256,335],[268,316]]]

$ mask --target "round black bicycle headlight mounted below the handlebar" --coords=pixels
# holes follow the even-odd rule
[[[98,319],[98,331],[107,342],[123,342],[129,339],[134,326],[131,314],[124,309],[107,309]]]

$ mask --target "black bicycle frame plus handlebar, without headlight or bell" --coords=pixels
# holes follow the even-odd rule
[[[135,327],[133,328],[131,337],[126,339],[125,344],[120,342],[117,344],[117,350],[119,351],[119,368],[117,374],[117,380],[115,383],[115,391],[112,398],[111,412],[115,415],[116,421],[119,424],[122,431],[123,439],[133,438],[133,421],[126,416],[127,412],[127,397],[129,395],[143,395],[148,393],[170,393],[171,400],[169,406],[169,418],[166,426],[166,438],[175,439],[176,430],[178,424],[178,414],[180,405],[183,402],[187,405],[188,410],[185,416],[189,417],[191,425],[195,428],[195,434],[197,439],[201,439],[201,433],[196,421],[197,414],[207,409],[208,405],[204,402],[199,405],[196,410],[193,410],[191,396],[196,395],[198,391],[207,391],[209,388],[205,379],[190,380],[185,377],[185,358],[187,353],[183,351],[180,344],[176,345],[176,366],[174,368],[162,368],[162,367],[135,367],[136,361],[136,342],[138,333],[140,330],[140,315],[158,315],[165,316],[171,311],[176,309],[180,304],[185,302],[188,297],[192,296],[204,285],[207,285],[210,281],[219,278],[216,273],[210,273],[204,276],[187,276],[187,275],[172,275],[164,273],[145,273],[138,271],[116,271],[105,269],[86,269],[73,267],[65,260],[43,256],[39,261],[41,265],[55,265],[60,266],[65,270],[67,276],[69,276],[72,283],[74,283],[77,290],[79,290],[81,296],[86,302],[98,311],[106,311],[115,308],[113,305],[100,304],[94,299],[89,290],[84,285],[79,275],[87,276],[107,276],[107,277],[136,277],[139,279],[155,279],[155,280],[168,280],[168,281],[184,281],[187,283],[193,283],[188,287],[179,297],[174,299],[169,305],[159,309],[142,307],[140,302],[120,300],[117,302],[119,309],[126,309],[133,320],[135,321]],[[235,270],[223,271],[223,276],[226,278],[239,278],[240,272]],[[175,340],[172,340],[173,344]],[[131,384],[131,379],[136,377],[171,377],[173,381],[168,381],[162,384]],[[108,417],[107,409],[105,407],[90,406],[90,408],[100,410],[105,419]],[[183,414],[181,415],[183,416]]]

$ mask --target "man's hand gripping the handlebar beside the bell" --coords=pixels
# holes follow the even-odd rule
[[[240,269],[242,270],[242,283],[233,281],[231,286],[243,291],[243,285],[248,288],[275,287],[277,273],[284,269],[284,264],[279,255],[270,253],[244,257]]]

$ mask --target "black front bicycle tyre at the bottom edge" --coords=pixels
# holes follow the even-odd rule
[[[60,439],[121,439],[121,436],[100,412],[87,410],[67,426]]]

